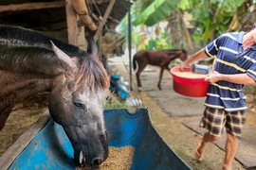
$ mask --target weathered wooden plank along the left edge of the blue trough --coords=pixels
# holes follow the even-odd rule
[[[14,144],[0,157],[1,170],[9,169],[13,161],[22,153],[27,145],[33,140],[35,135],[46,126],[50,120],[48,110],[42,114],[36,123],[31,125],[25,133],[23,133]]]

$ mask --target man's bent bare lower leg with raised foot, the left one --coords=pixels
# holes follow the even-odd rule
[[[201,144],[196,145],[194,153],[195,159],[198,161],[202,161],[207,144],[210,142],[217,141],[218,139],[220,139],[220,137],[211,135],[210,132],[206,132],[203,136]]]

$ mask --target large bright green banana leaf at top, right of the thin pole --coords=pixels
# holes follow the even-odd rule
[[[134,26],[142,24],[154,26],[161,20],[166,19],[178,4],[179,1],[177,0],[155,0],[148,8],[142,11],[132,24]]]

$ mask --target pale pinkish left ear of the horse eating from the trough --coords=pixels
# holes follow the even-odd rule
[[[62,66],[67,71],[73,71],[74,68],[76,68],[76,59],[72,59],[69,56],[67,56],[61,49],[59,49],[52,41],[51,46],[53,52],[56,54],[58,59],[60,59]]]

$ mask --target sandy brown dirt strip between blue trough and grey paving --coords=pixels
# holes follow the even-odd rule
[[[193,159],[196,133],[182,122],[200,119],[201,116],[171,117],[163,112],[147,93],[140,93],[145,106],[148,106],[153,124],[163,140],[182,158],[192,169],[196,170],[219,170],[222,167],[225,152],[215,144],[209,144],[202,162]],[[251,114],[250,114],[251,115]],[[234,161],[233,170],[245,169],[239,161]]]

